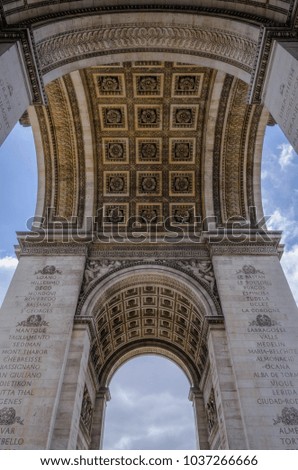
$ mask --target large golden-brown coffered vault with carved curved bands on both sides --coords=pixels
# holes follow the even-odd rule
[[[268,113],[229,74],[138,61],[72,72],[31,110],[37,215],[98,231],[255,223]],[[87,219],[89,218],[89,222]],[[165,222],[167,221],[167,222]]]

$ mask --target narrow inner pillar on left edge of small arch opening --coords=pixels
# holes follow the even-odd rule
[[[90,449],[102,449],[105,412],[110,399],[109,389],[100,388],[95,399]]]

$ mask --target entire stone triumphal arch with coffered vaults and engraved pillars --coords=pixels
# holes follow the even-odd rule
[[[289,406],[297,424],[297,308],[280,234],[260,222],[259,177],[268,110],[298,142],[297,9],[254,1],[224,11],[215,0],[111,14],[112,5],[2,3],[0,130],[35,105],[39,220],[19,234],[1,311],[10,388],[0,419],[8,433],[16,427],[1,447],[98,448],[108,371],[148,341],[193,377],[197,414],[210,414],[209,429],[198,420],[202,447],[295,448],[277,424],[288,424]],[[142,76],[156,86],[142,88]],[[135,237],[148,226],[153,238]],[[155,278],[141,282],[144,273]],[[175,309],[146,305],[150,288]]]

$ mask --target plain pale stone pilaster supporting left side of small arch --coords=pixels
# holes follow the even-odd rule
[[[72,332],[51,449],[76,449],[89,351],[89,327],[77,324]]]

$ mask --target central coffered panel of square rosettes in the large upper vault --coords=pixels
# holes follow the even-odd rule
[[[84,71],[103,223],[162,227],[201,215],[200,173],[212,71],[136,62]]]

